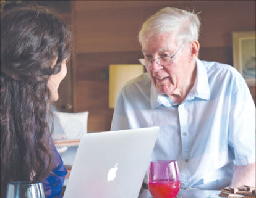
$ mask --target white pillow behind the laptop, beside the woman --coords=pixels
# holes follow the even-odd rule
[[[89,112],[66,113],[54,111],[54,139],[80,139],[87,133],[87,120]]]

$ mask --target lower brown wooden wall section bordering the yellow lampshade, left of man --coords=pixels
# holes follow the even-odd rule
[[[77,54],[74,112],[89,111],[88,131],[108,131],[114,109],[108,107],[110,64],[138,64],[140,51]]]

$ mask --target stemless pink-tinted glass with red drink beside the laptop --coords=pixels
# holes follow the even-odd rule
[[[175,160],[150,162],[148,189],[154,198],[174,198],[180,187],[179,168]]]

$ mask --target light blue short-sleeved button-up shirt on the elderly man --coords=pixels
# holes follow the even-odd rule
[[[151,160],[177,160],[182,188],[220,189],[235,164],[255,162],[255,104],[230,65],[197,59],[195,84],[181,104],[159,94],[147,73],[129,81],[111,130],[148,126],[160,126]]]

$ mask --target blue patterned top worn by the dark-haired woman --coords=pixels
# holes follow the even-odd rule
[[[54,146],[54,152],[56,155],[55,162],[56,168],[49,173],[45,181],[43,181],[43,188],[45,191],[45,198],[61,197],[61,191],[64,184],[65,176],[67,175],[67,170],[64,167],[63,161],[56,147]]]

